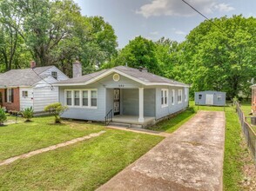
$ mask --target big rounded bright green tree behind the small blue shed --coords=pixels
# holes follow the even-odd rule
[[[183,79],[192,83],[192,91],[222,90],[234,97],[256,76],[256,19],[224,16],[212,22],[200,23],[186,36],[183,68],[192,73]]]

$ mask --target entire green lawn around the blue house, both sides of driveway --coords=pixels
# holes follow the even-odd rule
[[[190,105],[191,109],[158,123],[153,129],[172,133],[198,109],[224,110],[223,107],[194,106],[193,102]],[[225,113],[224,190],[236,191],[241,190],[239,181],[244,176],[243,156],[248,155],[248,151],[242,148],[244,140],[240,136],[241,128],[235,109],[226,107]],[[102,129],[106,133],[0,167],[0,190],[94,190],[163,139],[105,129],[93,123],[64,122],[53,125],[51,122],[52,117],[36,117],[30,123],[0,127],[0,160]]]

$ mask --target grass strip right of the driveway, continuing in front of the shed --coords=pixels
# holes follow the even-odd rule
[[[191,102],[190,105],[194,105]],[[248,155],[247,149],[243,148],[244,139],[241,134],[238,114],[231,106],[223,107],[208,107],[208,106],[193,106],[195,110],[212,110],[225,111],[226,115],[226,134],[225,134],[225,154],[223,168],[223,184],[226,191],[239,191],[242,188],[239,181],[244,177],[242,168],[244,166],[245,155]]]

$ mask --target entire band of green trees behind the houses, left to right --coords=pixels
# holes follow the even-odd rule
[[[192,85],[226,91],[232,98],[256,76],[256,18],[223,16],[205,20],[185,41],[137,36],[123,49],[110,23],[82,16],[73,0],[0,0],[0,72],[56,65],[71,76],[78,56],[83,73],[128,65]]]

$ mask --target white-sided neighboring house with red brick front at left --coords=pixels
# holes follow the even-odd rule
[[[34,112],[44,111],[44,107],[58,102],[58,88],[51,83],[69,79],[55,66],[30,69],[11,69],[0,74],[0,107],[20,111],[32,107]]]

